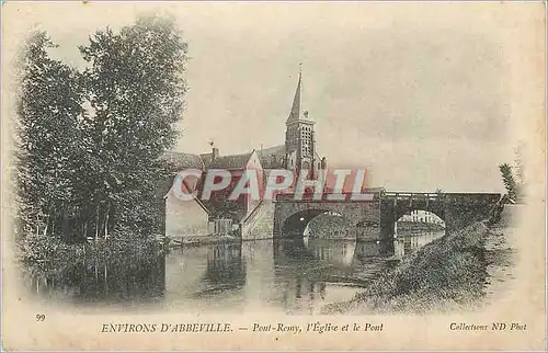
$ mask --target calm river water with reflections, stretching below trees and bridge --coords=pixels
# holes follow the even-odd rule
[[[313,314],[328,303],[352,298],[442,235],[384,242],[300,238],[181,248],[147,261],[80,263],[60,276],[31,283],[42,294],[77,303],[152,301],[176,310]]]

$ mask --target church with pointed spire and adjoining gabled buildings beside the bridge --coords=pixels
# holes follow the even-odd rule
[[[219,148],[212,146],[208,153],[193,155],[184,152],[168,152],[164,158],[175,171],[198,169],[203,172],[201,180],[186,180],[183,187],[192,192],[192,201],[180,201],[170,190],[165,198],[165,231],[168,235],[182,237],[201,237],[228,234],[242,227],[251,217],[265,208],[264,202],[252,200],[244,195],[236,201],[229,201],[228,195],[238,180],[248,169],[258,172],[260,190],[264,187],[270,171],[286,169],[294,175],[307,170],[307,180],[318,178],[320,170],[327,169],[327,159],[320,157],[316,146],[315,121],[308,111],[301,109],[302,75],[299,72],[297,89],[293,104],[285,122],[285,144],[252,150],[241,155],[222,156]],[[212,194],[207,201],[201,200],[202,183],[208,169],[225,169],[232,176],[230,186]],[[264,210],[262,210],[264,213]]]

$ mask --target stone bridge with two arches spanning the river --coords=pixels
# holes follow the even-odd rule
[[[312,194],[313,195],[313,194]],[[293,194],[276,196],[274,238],[301,237],[315,217],[330,213],[345,218],[353,226],[357,240],[391,238],[395,223],[415,209],[431,212],[445,221],[445,231],[453,232],[477,220],[489,218],[501,194],[494,193],[401,193],[370,192],[352,198],[336,194],[340,200],[295,200]]]

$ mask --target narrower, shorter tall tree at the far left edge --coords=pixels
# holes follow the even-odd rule
[[[19,219],[25,234],[43,236],[61,231],[73,212],[77,125],[83,116],[80,77],[49,57],[54,47],[45,32],[33,32],[19,62]]]

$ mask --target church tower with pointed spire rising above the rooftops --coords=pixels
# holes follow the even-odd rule
[[[308,111],[300,111],[300,93],[302,86],[302,73],[299,72],[299,81],[292,111],[285,122],[285,150],[286,169],[293,170],[297,175],[300,170],[309,170],[308,179],[313,179],[316,174],[316,136],[313,130],[315,122],[308,115]]]

